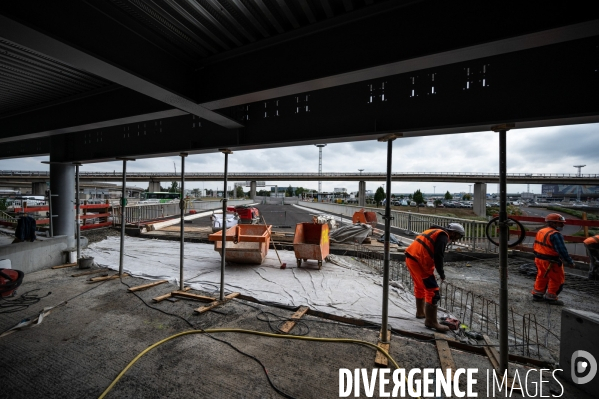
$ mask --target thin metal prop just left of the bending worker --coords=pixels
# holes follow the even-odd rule
[[[389,239],[391,235],[391,161],[393,153],[393,140],[395,135],[389,135],[383,138],[379,138],[379,141],[387,142],[387,180],[385,186],[387,187],[387,196],[385,200],[385,247],[384,247],[384,260],[383,260],[383,306],[382,306],[382,320],[381,320],[381,337],[382,342],[388,342],[388,328],[389,328]]]

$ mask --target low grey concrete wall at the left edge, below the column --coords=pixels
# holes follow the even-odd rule
[[[69,244],[72,244],[72,238],[57,236],[44,241],[2,245],[0,259],[10,259],[13,269],[32,273],[65,263],[67,259],[63,251],[69,248]]]

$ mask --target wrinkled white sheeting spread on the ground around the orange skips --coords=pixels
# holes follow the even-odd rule
[[[177,285],[179,243],[126,237],[124,271],[151,280],[167,279]],[[103,267],[118,270],[119,238],[109,237],[89,246],[83,253]],[[279,251],[281,261],[270,250],[262,265],[227,263],[225,291],[240,292],[262,302],[288,306],[307,305],[312,309],[380,323],[382,277],[367,266],[344,256],[332,256],[335,263],[308,261],[297,267],[292,251]],[[218,296],[220,255],[213,245],[185,244],[185,285]],[[416,305],[410,292],[392,283],[389,291],[389,323],[392,327],[422,331],[422,320],[414,318]]]

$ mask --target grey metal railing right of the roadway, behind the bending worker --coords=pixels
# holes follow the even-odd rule
[[[300,202],[300,205],[308,208],[318,209],[324,212],[340,214],[346,216],[350,220],[354,212],[362,208],[359,206],[329,204],[323,202]],[[385,221],[382,215],[385,212],[384,208],[364,207],[364,210],[367,212],[375,212],[377,223],[384,225]],[[465,235],[461,240],[459,240],[459,244],[469,248],[472,251],[495,253],[498,250],[498,248],[492,244],[485,235],[485,228],[487,226],[486,221],[461,219],[448,216],[423,215],[404,211],[391,211],[391,217],[393,218],[391,220],[391,227],[404,230],[408,234],[422,233],[424,230],[430,228],[433,224],[447,226],[449,223],[460,223],[462,226],[464,226]],[[492,231],[491,234],[492,237],[495,238],[495,241],[498,241],[498,232]]]

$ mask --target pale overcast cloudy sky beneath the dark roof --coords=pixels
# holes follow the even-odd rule
[[[481,172],[499,171],[499,135],[493,132],[449,134],[402,138],[393,144],[393,172]],[[599,124],[518,129],[507,133],[508,173],[577,173],[573,165],[586,165],[583,174],[599,173]],[[323,148],[322,171],[364,173],[386,170],[387,144],[372,141],[329,144]],[[0,160],[0,170],[48,170],[41,161],[48,157]],[[172,172],[181,169],[179,157],[139,159],[127,164],[127,171]],[[220,153],[190,155],[185,162],[187,172],[222,172],[224,156]],[[86,164],[81,171],[120,170],[122,162]],[[268,150],[236,151],[229,156],[229,172],[318,172],[318,148],[313,145]],[[165,184],[166,183],[166,184]],[[163,186],[169,182],[163,183]],[[380,183],[367,182],[367,190]],[[229,182],[232,186],[233,182]],[[318,182],[267,182],[279,186],[302,186],[318,189]],[[135,182],[133,185],[144,186]],[[435,186],[433,188],[433,186]],[[144,186],[145,187],[145,186]],[[358,182],[322,182],[323,191],[345,187],[357,191]],[[185,188],[222,189],[222,182],[187,182]],[[467,183],[393,182],[393,193],[469,192]],[[249,190],[246,189],[246,190]],[[541,185],[531,185],[534,193]],[[526,191],[526,185],[508,185],[508,193]],[[497,185],[487,186],[488,193]]]

